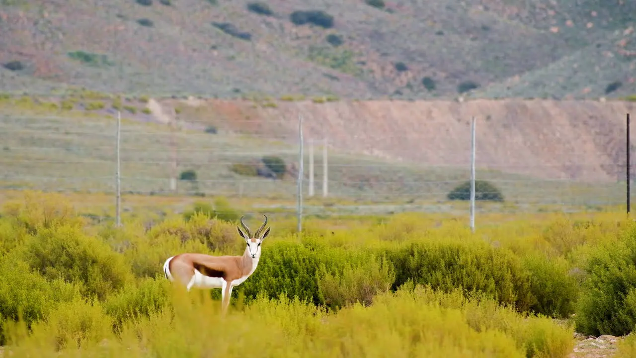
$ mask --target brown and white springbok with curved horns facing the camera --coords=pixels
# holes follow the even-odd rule
[[[186,253],[170,257],[163,264],[165,278],[171,282],[176,280],[186,285],[186,289],[195,287],[197,289],[221,289],[221,314],[225,312],[230,304],[232,288],[243,283],[254,273],[258,260],[261,257],[261,243],[270,234],[268,227],[265,233],[261,232],[267,225],[267,215],[265,222],[254,233],[245,225],[243,217],[240,224],[247,234],[240,227],[237,230],[244,238],[247,247],[242,256],[211,256],[205,254]]]

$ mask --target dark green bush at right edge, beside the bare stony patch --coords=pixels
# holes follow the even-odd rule
[[[628,334],[636,327],[636,229],[590,252],[576,329],[594,336]]]

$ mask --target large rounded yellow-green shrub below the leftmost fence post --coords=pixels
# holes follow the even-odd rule
[[[120,254],[76,227],[40,229],[27,239],[24,254],[29,266],[45,278],[79,283],[84,296],[100,300],[132,278]]]

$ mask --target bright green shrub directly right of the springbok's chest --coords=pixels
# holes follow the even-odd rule
[[[357,301],[368,303],[371,292],[382,292],[392,282],[390,262],[369,262],[373,260],[370,251],[328,247],[313,236],[303,237],[302,243],[273,241],[263,248],[258,275],[241,287],[248,302],[262,292],[270,298],[296,296],[331,308]],[[372,273],[362,275],[363,269]],[[338,283],[345,286],[328,292]]]

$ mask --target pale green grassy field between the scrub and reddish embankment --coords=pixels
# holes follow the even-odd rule
[[[3,189],[114,192],[116,181],[116,120],[113,108],[52,110],[31,99],[5,100],[9,112],[0,115]],[[22,101],[22,102],[21,102]],[[81,106],[104,102],[85,99]],[[107,103],[108,104],[108,103]],[[132,105],[135,105],[134,107]],[[76,104],[79,106],[80,104]],[[110,105],[110,104],[109,104]],[[24,114],[14,106],[23,106]],[[96,106],[93,104],[93,106]],[[293,169],[280,180],[239,175],[234,164],[259,162],[265,155],[282,158],[298,168],[298,146],[289,138],[254,138],[237,132],[204,128],[174,132],[142,113],[142,102],[124,104],[121,127],[121,190],[129,194],[223,195],[277,201],[271,210],[293,210],[297,192]],[[27,110],[28,108],[28,110]],[[109,113],[110,112],[110,113]],[[173,169],[176,148],[177,167]],[[329,197],[322,198],[321,147],[315,148],[315,194],[307,198],[308,150],[305,148],[303,191],[307,213],[389,213],[397,211],[464,211],[466,203],[448,201],[450,190],[469,179],[469,168],[435,167],[394,162],[365,155],[329,151]],[[195,182],[181,180],[177,192],[170,177],[193,170]],[[482,170],[477,178],[501,190],[503,203],[480,204],[480,211],[603,210],[624,201],[625,184],[542,180],[531,176]],[[286,203],[286,204],[281,204]],[[256,205],[256,204],[255,204]],[[262,204],[259,204],[262,205]],[[256,206],[255,206],[256,207]],[[259,207],[259,210],[268,210]]]

